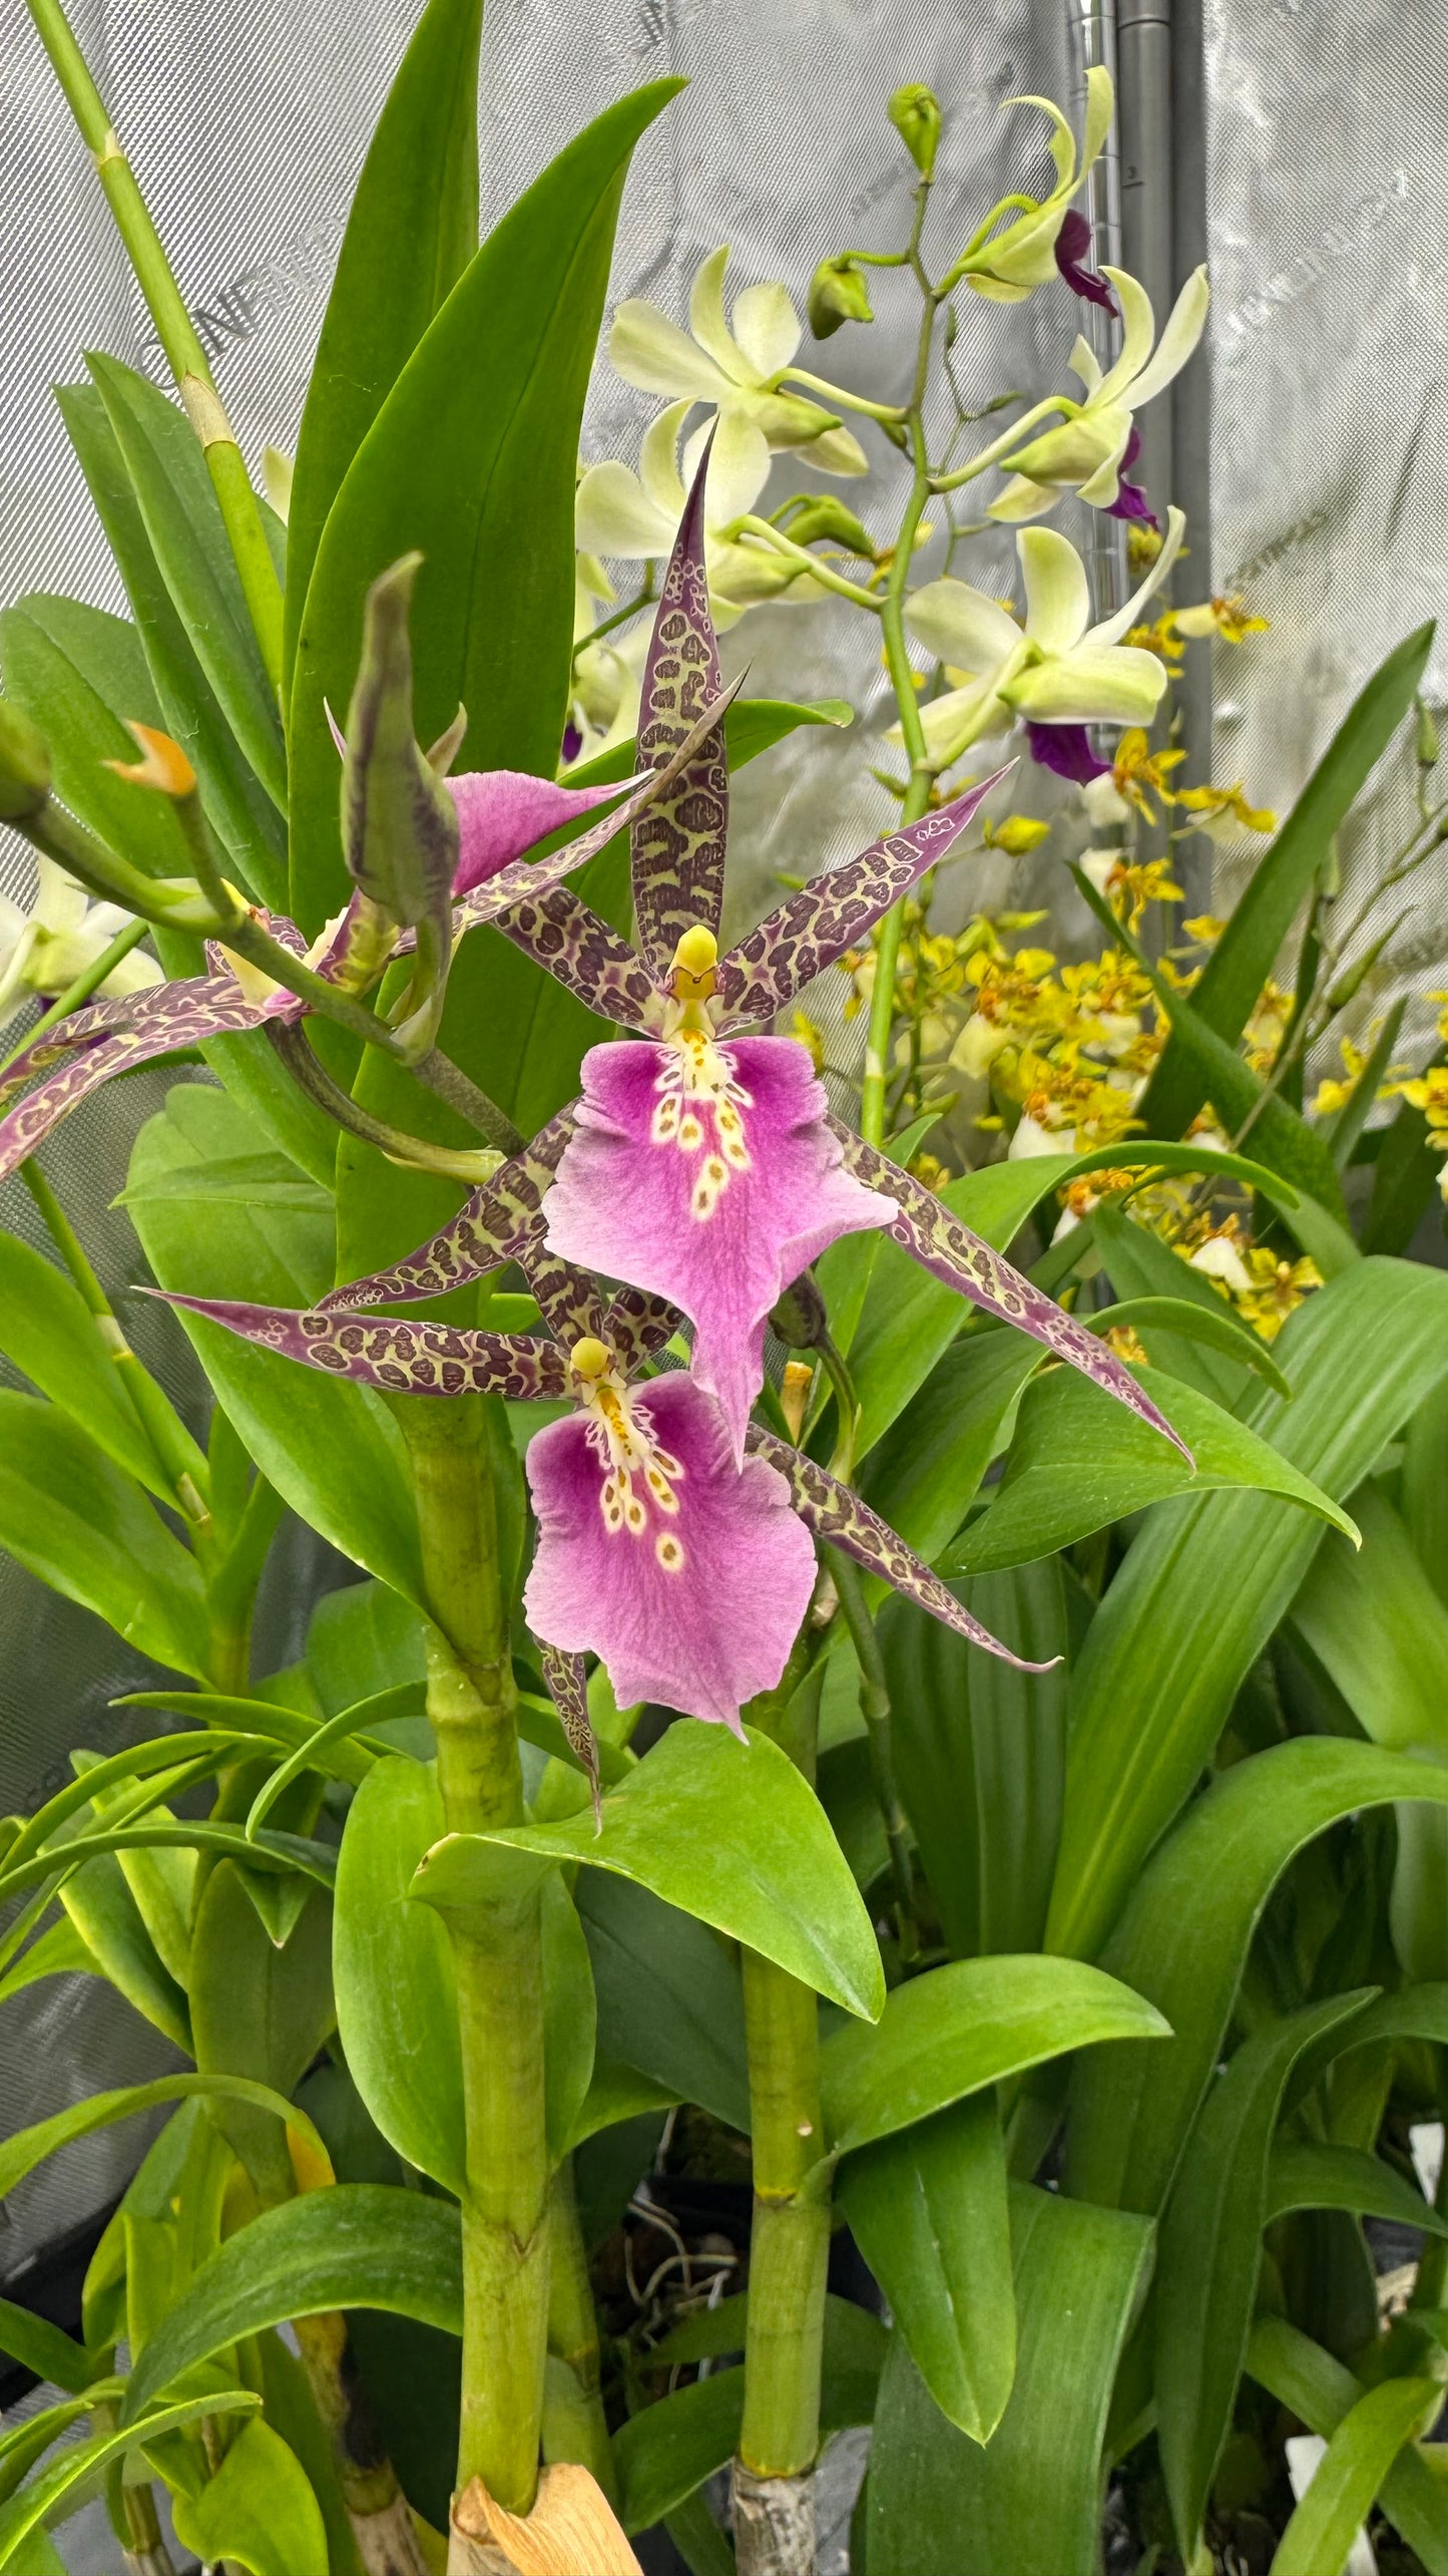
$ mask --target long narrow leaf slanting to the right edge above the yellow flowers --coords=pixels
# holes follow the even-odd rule
[[[1257,860],[1250,886],[1193,987],[1193,1015],[1226,1046],[1234,1048],[1247,1028],[1278,951],[1327,860],[1332,835],[1348,819],[1371,770],[1407,719],[1430,649],[1433,623],[1417,626],[1373,672],[1348,708],[1273,848]],[[1180,1136],[1208,1090],[1201,1064],[1172,1025],[1141,1103],[1147,1126]],[[1219,1100],[1216,1090],[1211,1090],[1211,1100],[1221,1118],[1232,1118],[1232,1105]],[[1257,1136],[1257,1149],[1265,1149],[1262,1136]]]

